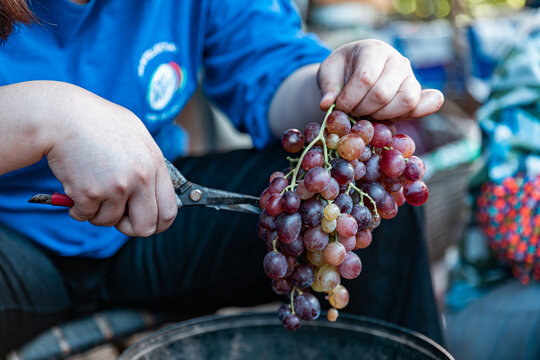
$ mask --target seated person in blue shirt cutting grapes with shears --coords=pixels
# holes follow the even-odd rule
[[[30,7],[0,0],[0,15],[7,39],[0,48],[0,353],[104,306],[190,311],[268,299],[264,246],[246,240],[256,217],[178,212],[164,156],[179,158],[192,181],[257,195],[266,173],[284,165],[271,145],[285,129],[320,121],[331,104],[399,119],[428,115],[443,102],[440,92],[421,89],[409,61],[387,44],[362,40],[330,51],[301,31],[286,0],[43,0]],[[7,38],[12,21],[28,16],[34,21]],[[181,157],[187,137],[173,121],[199,79],[260,151]],[[71,217],[27,203],[55,191],[74,199]],[[400,209],[417,216],[407,212]],[[386,235],[381,228],[381,237],[423,251],[419,227],[408,228],[417,245],[402,228]],[[385,257],[377,246],[373,257]],[[432,302],[427,263],[410,257],[421,269],[410,265],[400,276],[427,277],[404,291]],[[373,298],[374,316],[438,336],[436,326],[409,323],[429,317],[423,312],[405,305],[409,315],[396,312],[396,297],[386,308]]]

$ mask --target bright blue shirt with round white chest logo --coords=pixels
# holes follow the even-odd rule
[[[135,113],[169,159],[186,136],[173,120],[203,88],[257,148],[273,141],[267,113],[277,87],[297,68],[329,54],[301,32],[285,0],[34,1],[39,24],[0,48],[0,85],[58,80]],[[36,193],[63,192],[46,159],[0,176],[0,222],[54,253],[103,258],[127,237],[73,220],[66,209],[28,204]]]

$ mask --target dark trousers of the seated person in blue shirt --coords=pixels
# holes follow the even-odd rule
[[[287,165],[285,156],[278,148],[241,150],[175,165],[201,185],[259,195],[269,175]],[[262,269],[266,248],[255,233],[257,219],[183,208],[169,230],[130,239],[108,259],[55,256],[0,227],[0,354],[59,321],[105,307],[190,315],[276,300]],[[362,274],[343,281],[351,294],[343,311],[387,320],[441,343],[421,225],[420,209],[409,206],[383,220],[372,244],[357,252]],[[322,306],[328,308],[325,301]]]

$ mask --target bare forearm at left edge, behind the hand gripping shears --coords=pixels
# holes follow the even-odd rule
[[[57,83],[30,81],[0,87],[0,174],[39,161],[50,135],[44,113],[50,90]]]

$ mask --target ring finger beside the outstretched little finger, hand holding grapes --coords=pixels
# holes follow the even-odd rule
[[[383,108],[374,112],[371,117],[375,120],[395,119],[413,111],[420,102],[422,87],[414,76],[409,76],[396,96]]]

